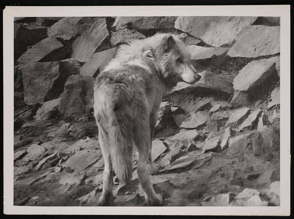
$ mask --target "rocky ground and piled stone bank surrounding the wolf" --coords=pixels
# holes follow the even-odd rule
[[[103,158],[93,82],[131,38],[189,33],[196,84],[163,98],[151,176],[164,206],[280,205],[280,20],[44,17],[14,23],[14,205],[96,206]],[[114,176],[116,206],[141,206]]]

